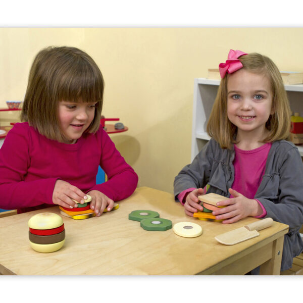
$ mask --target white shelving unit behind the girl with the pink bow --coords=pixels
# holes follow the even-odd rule
[[[220,80],[194,79],[191,161],[210,139],[206,132],[206,126],[219,84]],[[291,111],[303,116],[303,84],[285,85],[285,90],[287,91]],[[303,145],[297,145],[297,147],[301,157],[303,157]]]

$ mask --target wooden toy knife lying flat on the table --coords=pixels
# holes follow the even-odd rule
[[[258,230],[272,226],[273,222],[274,220],[272,218],[261,219],[257,222],[216,236],[215,239],[225,245],[234,245],[245,240],[258,237],[260,235]]]

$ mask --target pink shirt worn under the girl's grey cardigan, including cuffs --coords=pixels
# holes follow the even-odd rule
[[[235,179],[232,184],[232,189],[243,194],[248,199],[254,198],[265,172],[270,147],[271,143],[265,143],[255,149],[243,150],[234,145],[235,158],[233,165],[235,169]],[[178,199],[183,205],[185,203],[184,198],[186,193],[194,189],[195,188],[188,188],[178,194]],[[230,195],[230,198],[232,197],[233,195]],[[263,214],[256,218],[263,218],[267,212],[261,202],[258,199],[256,199],[256,201],[258,201],[263,210]]]

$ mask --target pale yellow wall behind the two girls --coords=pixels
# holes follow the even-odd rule
[[[190,162],[194,78],[225,62],[230,48],[267,55],[281,71],[303,71],[302,36],[303,28],[0,28],[0,107],[23,99],[41,48],[79,47],[104,75],[104,115],[129,127],[111,137],[138,186],[172,192]],[[14,115],[2,113],[2,125]]]

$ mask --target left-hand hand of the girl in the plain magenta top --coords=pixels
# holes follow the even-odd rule
[[[53,191],[53,203],[67,208],[77,207],[77,203],[72,199],[83,204],[86,195],[78,187],[63,180],[57,180]]]

